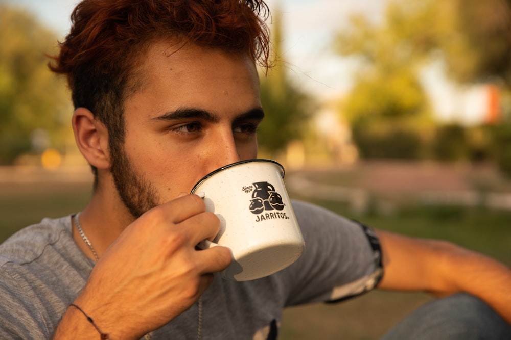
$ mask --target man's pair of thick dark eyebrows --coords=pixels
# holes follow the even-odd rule
[[[244,112],[234,119],[234,123],[240,122],[247,119],[263,120],[264,111],[262,108],[254,108],[247,112]],[[173,119],[201,119],[209,122],[218,122],[220,119],[218,115],[215,115],[209,111],[196,109],[196,108],[179,108],[174,111],[169,111],[161,116],[151,118],[152,121],[161,120],[173,120]]]

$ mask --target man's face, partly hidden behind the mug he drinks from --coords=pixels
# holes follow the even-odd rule
[[[112,175],[134,217],[207,173],[257,157],[263,118],[259,81],[247,56],[171,43],[151,45],[142,88],[125,102],[124,152]]]

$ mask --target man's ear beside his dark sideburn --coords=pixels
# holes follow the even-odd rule
[[[87,162],[98,169],[109,169],[108,131],[105,125],[85,108],[75,110],[72,123],[76,145]]]

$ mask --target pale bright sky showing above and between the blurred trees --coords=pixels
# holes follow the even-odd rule
[[[0,0],[2,1],[2,0]],[[338,96],[349,89],[347,59],[333,52],[331,41],[336,29],[353,13],[364,13],[377,20],[387,0],[267,0],[272,17],[282,20],[283,59],[293,80],[319,97]],[[26,6],[59,36],[69,29],[69,15],[78,0],[7,0]]]

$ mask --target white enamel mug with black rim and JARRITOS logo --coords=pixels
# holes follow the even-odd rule
[[[220,219],[220,231],[198,246],[227,247],[233,262],[221,275],[246,281],[268,276],[293,264],[305,241],[284,186],[284,168],[254,159],[226,165],[204,176],[192,189],[206,211]]]

